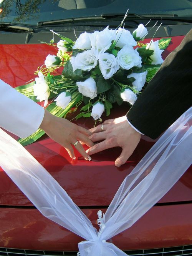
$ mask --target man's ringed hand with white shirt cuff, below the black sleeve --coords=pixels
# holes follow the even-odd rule
[[[103,126],[98,125],[90,129],[90,131],[93,135],[89,136],[89,138],[93,142],[102,142],[92,146],[86,152],[92,155],[107,148],[119,146],[122,148],[122,152],[115,161],[115,165],[118,167],[123,165],[132,155],[141,139],[141,134],[129,125],[126,116],[106,120]]]

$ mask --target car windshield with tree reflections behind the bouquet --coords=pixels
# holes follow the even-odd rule
[[[0,21],[38,22],[103,14],[161,14],[192,17],[192,0],[0,0]]]

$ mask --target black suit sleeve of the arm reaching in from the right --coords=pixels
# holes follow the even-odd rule
[[[141,133],[157,138],[192,105],[192,30],[170,53],[127,113]]]

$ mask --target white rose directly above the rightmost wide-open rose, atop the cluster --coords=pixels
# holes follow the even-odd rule
[[[137,45],[137,42],[134,40],[129,30],[126,30],[125,28],[118,28],[115,41],[116,41],[115,46],[120,48],[123,48],[124,45],[130,45],[130,46]]]

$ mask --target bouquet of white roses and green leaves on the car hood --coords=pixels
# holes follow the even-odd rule
[[[44,101],[53,115],[66,116],[81,105],[76,119],[92,116],[100,121],[104,111],[110,115],[114,103],[134,104],[161,66],[161,54],[171,40],[142,43],[147,35],[142,24],[132,34],[121,27],[84,32],[76,42],[55,34],[60,41],[55,45],[53,37],[49,45],[57,48],[56,55],[46,57],[35,82],[16,89],[35,101]],[[43,134],[39,129],[19,141],[28,145]]]

